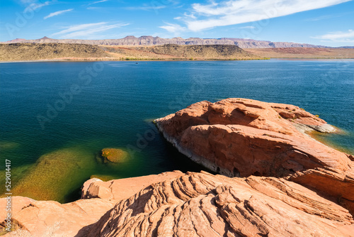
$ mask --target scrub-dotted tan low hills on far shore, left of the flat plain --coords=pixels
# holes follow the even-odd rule
[[[0,44],[0,61],[23,60],[249,60],[236,45],[99,46],[76,43]]]

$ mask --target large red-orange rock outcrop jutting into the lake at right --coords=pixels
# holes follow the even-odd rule
[[[202,101],[157,119],[164,137],[195,162],[229,177],[273,176],[304,184],[354,211],[353,161],[304,131],[335,131],[297,106],[250,99]]]

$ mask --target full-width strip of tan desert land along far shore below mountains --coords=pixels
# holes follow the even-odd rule
[[[253,60],[354,58],[353,48],[247,48],[236,45],[0,44],[0,62],[26,60]]]

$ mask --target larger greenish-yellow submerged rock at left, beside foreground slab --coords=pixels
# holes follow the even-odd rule
[[[93,165],[93,155],[79,148],[55,150],[42,155],[11,191],[13,195],[36,200],[66,202],[66,196],[90,176]]]

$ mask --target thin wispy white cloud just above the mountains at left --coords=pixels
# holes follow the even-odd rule
[[[115,23],[110,24],[108,22],[98,22],[98,23],[88,23],[75,26],[68,26],[62,31],[53,33],[51,37],[59,38],[98,38],[99,36],[96,33],[101,33],[103,31],[108,31],[113,28],[121,28],[122,26],[127,26],[128,23]]]

